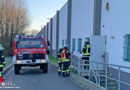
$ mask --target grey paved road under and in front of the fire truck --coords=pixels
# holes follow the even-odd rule
[[[5,75],[6,87],[20,87],[18,90],[84,90],[70,78],[58,76],[57,67],[52,64],[49,64],[47,74],[42,73],[39,68],[24,67],[20,75],[15,75],[12,68]]]

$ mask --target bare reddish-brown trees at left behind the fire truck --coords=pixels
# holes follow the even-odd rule
[[[28,24],[28,10],[24,0],[0,0],[0,43],[6,49],[12,50],[10,46],[15,35],[21,34]]]

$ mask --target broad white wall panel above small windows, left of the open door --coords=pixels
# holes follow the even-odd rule
[[[94,0],[72,0],[71,50],[75,39],[75,54],[78,53],[78,38],[82,38],[82,47],[86,37],[93,34]]]

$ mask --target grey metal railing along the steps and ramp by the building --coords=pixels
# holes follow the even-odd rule
[[[82,62],[88,62],[88,64],[84,64]],[[97,85],[100,85],[101,83],[101,77],[104,77],[105,78],[105,89],[108,90],[108,80],[113,80],[116,82],[117,84],[117,88],[118,90],[121,90],[121,84],[124,84],[124,85],[127,85],[130,87],[130,83],[129,82],[126,82],[126,81],[123,81],[121,80],[121,72],[122,72],[122,69],[128,69],[130,71],[130,67],[125,67],[125,66],[119,66],[119,65],[114,65],[114,64],[105,64],[105,63],[100,63],[100,62],[95,62],[95,61],[88,61],[88,60],[83,60],[83,59],[79,59],[79,58],[71,58],[71,66],[72,66],[72,72],[75,72],[77,73],[79,76],[84,76],[82,75],[82,73],[86,73],[86,75],[88,75],[88,79],[90,81],[93,81],[95,82]],[[83,69],[83,66],[86,66],[88,67],[89,66],[89,69]],[[117,78],[114,78],[109,74],[108,72],[108,68],[111,67],[111,68],[116,68],[116,71],[118,72],[118,76]],[[100,72],[103,72],[103,73],[100,73]]]

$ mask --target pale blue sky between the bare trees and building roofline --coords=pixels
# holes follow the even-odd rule
[[[41,30],[68,0],[25,0],[29,11],[28,30]]]

